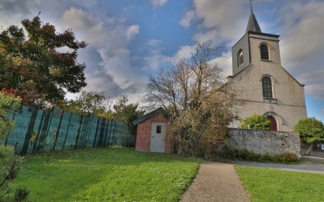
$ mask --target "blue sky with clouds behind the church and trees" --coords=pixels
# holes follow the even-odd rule
[[[253,10],[262,32],[280,35],[281,64],[295,78],[324,71],[324,1],[255,0]],[[84,90],[138,102],[148,77],[190,57],[198,41],[228,47],[216,62],[224,78],[231,75],[230,50],[245,34],[250,8],[248,0],[2,0],[0,25],[21,26],[39,11],[58,32],[72,29],[89,43],[78,53],[87,65]],[[324,76],[301,83],[308,116],[324,121]]]

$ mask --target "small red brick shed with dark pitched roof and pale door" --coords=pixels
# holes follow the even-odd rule
[[[168,119],[163,108],[158,108],[133,121],[137,126],[136,145],[138,151],[172,153]]]

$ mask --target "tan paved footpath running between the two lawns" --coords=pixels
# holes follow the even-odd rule
[[[233,165],[204,162],[180,201],[249,202],[251,199]]]

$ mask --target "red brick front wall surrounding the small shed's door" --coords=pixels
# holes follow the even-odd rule
[[[166,123],[166,144],[165,153],[172,153],[172,139],[168,127],[168,119],[161,114],[157,114],[137,125],[135,150],[150,151],[152,123]]]

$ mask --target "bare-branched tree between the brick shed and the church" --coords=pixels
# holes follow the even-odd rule
[[[224,48],[199,42],[189,60],[180,59],[168,69],[159,69],[146,85],[144,101],[162,106],[170,115],[174,148],[179,155],[194,155],[198,148],[222,141],[235,119],[221,69],[212,62]]]

